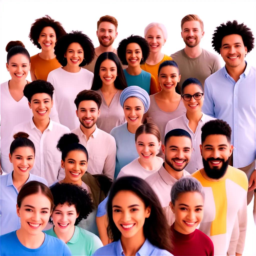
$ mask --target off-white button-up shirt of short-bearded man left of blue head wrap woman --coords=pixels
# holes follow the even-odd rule
[[[100,130],[97,126],[88,141],[80,126],[71,132],[79,137],[80,143],[85,146],[88,151],[89,159],[87,171],[90,174],[104,174],[113,179],[116,155],[114,137]]]

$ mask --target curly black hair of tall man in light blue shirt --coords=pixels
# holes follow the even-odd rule
[[[251,29],[243,23],[238,24],[237,20],[233,20],[232,22],[229,20],[226,24],[222,23],[219,27],[216,27],[216,30],[214,30],[214,34],[212,35],[212,47],[218,54],[220,54],[223,37],[232,34],[238,34],[242,37],[243,44],[247,47],[248,53],[254,48],[254,37]]]

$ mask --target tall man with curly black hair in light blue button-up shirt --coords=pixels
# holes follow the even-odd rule
[[[216,28],[212,46],[226,65],[206,79],[202,111],[225,120],[232,128],[230,164],[243,170],[249,179],[247,203],[254,194],[255,221],[255,67],[245,61],[254,47],[254,37],[243,23],[228,21]]]

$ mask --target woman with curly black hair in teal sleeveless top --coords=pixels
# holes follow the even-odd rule
[[[123,39],[117,48],[117,55],[123,65],[128,65],[124,69],[124,75],[128,86],[139,86],[148,94],[158,92],[156,79],[151,74],[141,69],[146,62],[150,52],[147,40],[141,36],[131,35]]]

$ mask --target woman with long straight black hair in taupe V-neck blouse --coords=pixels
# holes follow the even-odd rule
[[[103,52],[94,68],[92,90],[102,98],[97,126],[104,132],[125,123],[124,111],[119,104],[120,94],[127,87],[122,64],[113,52]]]

